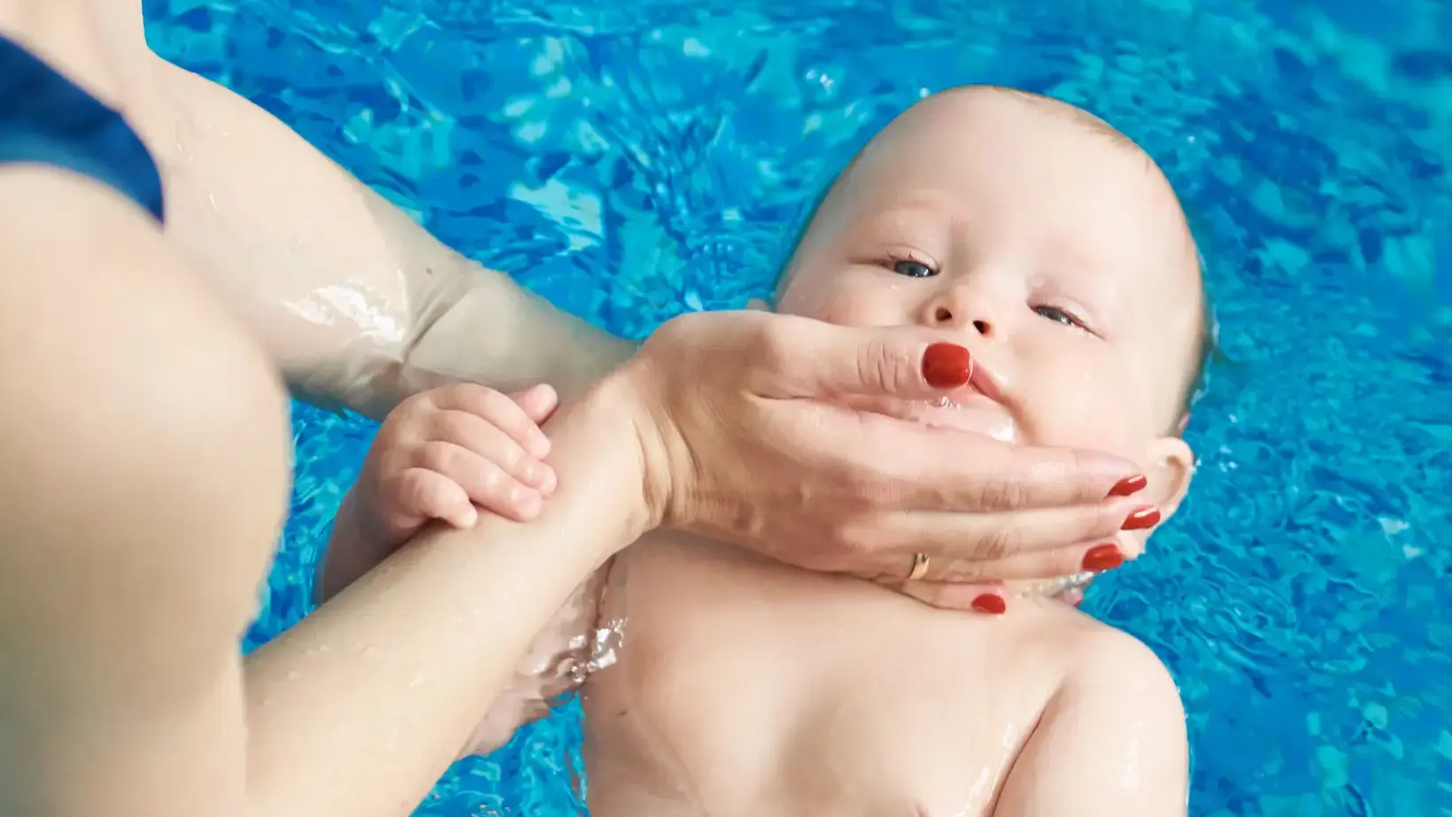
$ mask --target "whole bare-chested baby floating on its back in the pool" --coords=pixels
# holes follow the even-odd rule
[[[833,324],[945,329],[973,356],[947,405],[855,408],[1141,463],[1134,533],[1086,547],[1086,572],[1135,556],[1189,486],[1195,248],[1154,163],[1079,109],[995,87],[915,104],[833,184],[777,300]],[[536,424],[552,409],[547,389],[511,401],[478,386],[399,406],[340,512],[324,594],[430,517],[472,524],[470,498],[505,515],[547,501]],[[976,601],[992,615],[948,612],[659,531],[540,636],[469,750],[582,681],[597,817],[1185,814],[1169,673],[1037,591],[1009,580]],[[569,634],[619,621],[624,647],[582,672],[590,646]]]

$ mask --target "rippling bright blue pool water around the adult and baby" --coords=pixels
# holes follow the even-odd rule
[[[1180,190],[1223,325],[1192,499],[1088,604],[1179,679],[1192,813],[1452,814],[1452,4],[588,6],[148,12],[161,54],[630,335],[764,293],[806,203],[923,90],[1088,104]],[[253,643],[306,611],[373,431],[306,406],[295,427],[293,515]],[[568,814],[578,737],[565,711],[460,763],[421,814]]]

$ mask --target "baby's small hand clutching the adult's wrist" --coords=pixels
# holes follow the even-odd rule
[[[549,386],[504,395],[459,383],[414,395],[388,415],[357,483],[375,544],[398,544],[430,520],[468,528],[475,505],[527,522],[555,492],[540,431],[559,405]],[[383,541],[378,541],[378,540]]]

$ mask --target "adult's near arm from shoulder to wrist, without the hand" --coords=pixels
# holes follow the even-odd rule
[[[242,662],[287,498],[264,356],[94,181],[0,168],[0,263],[6,817],[404,817],[645,524],[605,385],[549,425],[540,520],[421,535]]]

